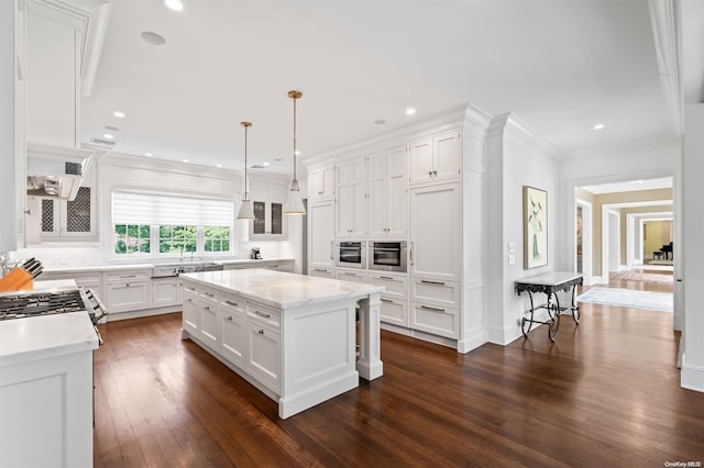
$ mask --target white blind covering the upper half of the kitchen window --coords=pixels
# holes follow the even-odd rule
[[[113,224],[232,226],[233,220],[234,203],[229,200],[112,192]]]

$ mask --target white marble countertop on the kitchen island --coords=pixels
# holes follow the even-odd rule
[[[384,290],[382,286],[258,268],[186,274],[180,278],[185,282],[191,280],[277,309],[363,298]]]

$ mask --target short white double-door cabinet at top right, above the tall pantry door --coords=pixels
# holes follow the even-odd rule
[[[450,131],[410,143],[411,186],[460,180],[460,132]]]

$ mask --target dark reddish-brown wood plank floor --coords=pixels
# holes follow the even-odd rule
[[[554,344],[541,327],[466,355],[384,333],[381,379],[286,421],[182,341],[178,313],[111,322],[101,333],[97,467],[704,461],[704,394],[680,388],[669,313],[582,304],[580,326],[564,317]]]

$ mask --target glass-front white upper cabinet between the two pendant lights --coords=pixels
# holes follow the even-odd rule
[[[286,185],[252,181],[250,197],[254,207],[251,238],[280,241],[286,238],[284,202]]]

